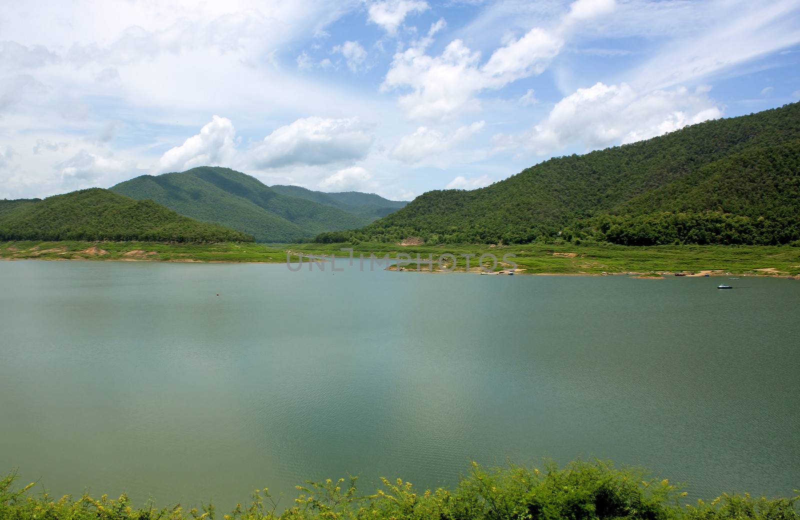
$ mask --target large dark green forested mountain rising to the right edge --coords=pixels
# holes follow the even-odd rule
[[[800,104],[556,157],[482,189],[437,190],[319,241],[782,244],[800,240]]]

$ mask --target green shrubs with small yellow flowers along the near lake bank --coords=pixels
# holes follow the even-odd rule
[[[800,520],[798,497],[752,498],[722,494],[713,502],[682,504],[686,492],[666,479],[647,479],[630,468],[608,462],[571,462],[564,468],[547,464],[541,470],[510,464],[484,469],[472,464],[470,473],[453,490],[439,488],[419,494],[410,482],[382,478],[369,495],[358,494],[357,478],[306,482],[297,486],[294,505],[278,510],[269,490],[256,490],[249,506],[238,505],[218,515],[214,506],[185,510],[180,505],[154,508],[131,506],[122,494],[117,500],[83,495],[56,500],[34,495],[29,484],[13,490],[15,474],[0,481],[2,520]]]

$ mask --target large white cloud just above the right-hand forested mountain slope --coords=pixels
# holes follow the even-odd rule
[[[558,101],[546,119],[535,126],[529,145],[541,155],[569,145],[598,149],[722,117],[722,110],[707,93],[707,87],[637,93],[626,83],[598,82]]]

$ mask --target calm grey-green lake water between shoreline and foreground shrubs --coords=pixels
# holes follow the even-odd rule
[[[283,507],[544,457],[800,486],[800,281],[25,260],[0,289],[0,473],[58,496]]]

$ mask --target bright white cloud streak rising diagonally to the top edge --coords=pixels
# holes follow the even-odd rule
[[[534,27],[522,38],[511,38],[483,64],[481,54],[460,39],[450,42],[438,56],[426,54],[434,25],[428,38],[394,54],[381,89],[407,92],[398,100],[406,117],[454,117],[464,109],[476,108],[475,96],[482,90],[501,89],[512,81],[542,73],[578,22],[607,14],[613,7],[613,0],[578,0],[554,28]]]

